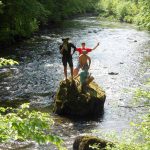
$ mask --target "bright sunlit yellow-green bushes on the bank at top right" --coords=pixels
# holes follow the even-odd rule
[[[149,0],[100,0],[98,6],[104,17],[114,16],[150,30]]]

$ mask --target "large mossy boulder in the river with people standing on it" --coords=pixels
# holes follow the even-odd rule
[[[103,113],[105,92],[91,82],[85,92],[81,92],[79,78],[61,81],[56,93],[54,112],[59,115],[99,116]]]

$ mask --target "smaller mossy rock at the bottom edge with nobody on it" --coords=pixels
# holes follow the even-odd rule
[[[93,137],[93,136],[79,136],[75,139],[73,143],[73,150],[93,150],[90,146],[93,144],[97,144],[99,149],[105,150],[105,147],[109,145],[110,147],[113,147],[113,143]]]

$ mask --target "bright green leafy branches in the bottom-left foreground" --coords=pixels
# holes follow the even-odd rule
[[[9,110],[10,113],[5,114]],[[54,124],[50,115],[38,111],[29,111],[29,104],[21,105],[20,109],[0,108],[0,142],[10,140],[33,140],[38,143],[53,143],[60,150],[63,141],[50,134]]]

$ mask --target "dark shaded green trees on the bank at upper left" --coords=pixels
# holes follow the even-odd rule
[[[94,10],[98,0],[1,0],[0,43],[29,37],[40,24]]]

